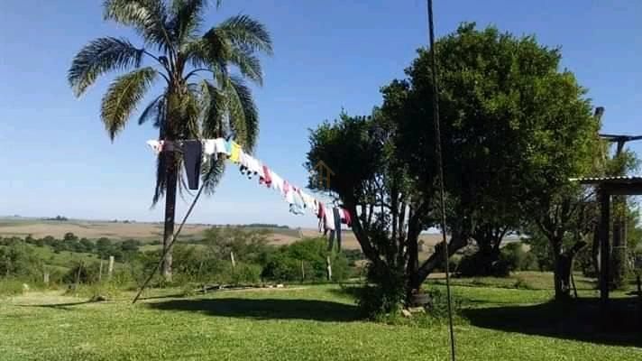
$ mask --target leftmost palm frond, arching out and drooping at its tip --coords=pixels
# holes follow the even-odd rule
[[[67,75],[69,85],[79,97],[108,71],[140,67],[143,53],[143,49],[125,39],[98,38],[78,51],[71,61]]]

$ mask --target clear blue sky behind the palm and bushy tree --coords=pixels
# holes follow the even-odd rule
[[[99,121],[99,101],[112,77],[79,99],[66,80],[73,55],[99,36],[132,32],[102,20],[101,1],[4,0],[0,11],[0,215],[161,220],[151,209],[154,158],[144,142],[151,125],[133,121],[111,143]],[[561,46],[564,67],[605,106],[604,130],[642,133],[642,2],[437,0],[436,32],[464,21],[535,34]],[[381,102],[379,88],[403,76],[426,43],[423,0],[239,0],[212,8],[206,23],[231,14],[265,23],[274,56],[263,60],[265,81],[255,89],[261,116],[257,157],[298,185],[308,129],[342,107],[366,114]],[[634,145],[642,150],[642,143]],[[179,200],[179,214],[188,207]],[[216,194],[199,202],[190,220],[279,223],[311,227],[276,193],[231,166]]]

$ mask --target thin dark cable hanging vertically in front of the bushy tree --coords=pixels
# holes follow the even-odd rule
[[[448,242],[445,235],[445,190],[444,190],[444,164],[441,149],[441,129],[439,126],[439,87],[437,86],[437,66],[435,57],[435,27],[433,24],[433,0],[428,1],[428,39],[430,41],[430,67],[433,78],[433,123],[435,124],[436,161],[439,170],[439,205],[441,208],[441,230],[442,243],[444,244],[445,262],[445,290],[448,299],[448,329],[450,330],[450,354],[453,361],[454,356],[454,329],[453,329],[453,306],[450,295],[450,267],[448,264]]]

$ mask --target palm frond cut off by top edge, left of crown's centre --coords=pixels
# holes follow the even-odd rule
[[[162,0],[105,0],[105,20],[114,20],[133,27],[145,42],[159,49],[171,46],[170,32],[165,23],[167,9]]]

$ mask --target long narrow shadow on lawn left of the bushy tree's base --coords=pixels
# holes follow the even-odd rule
[[[312,319],[346,322],[358,319],[356,306],[316,300],[190,299],[148,303],[157,310],[187,310],[242,319]]]

